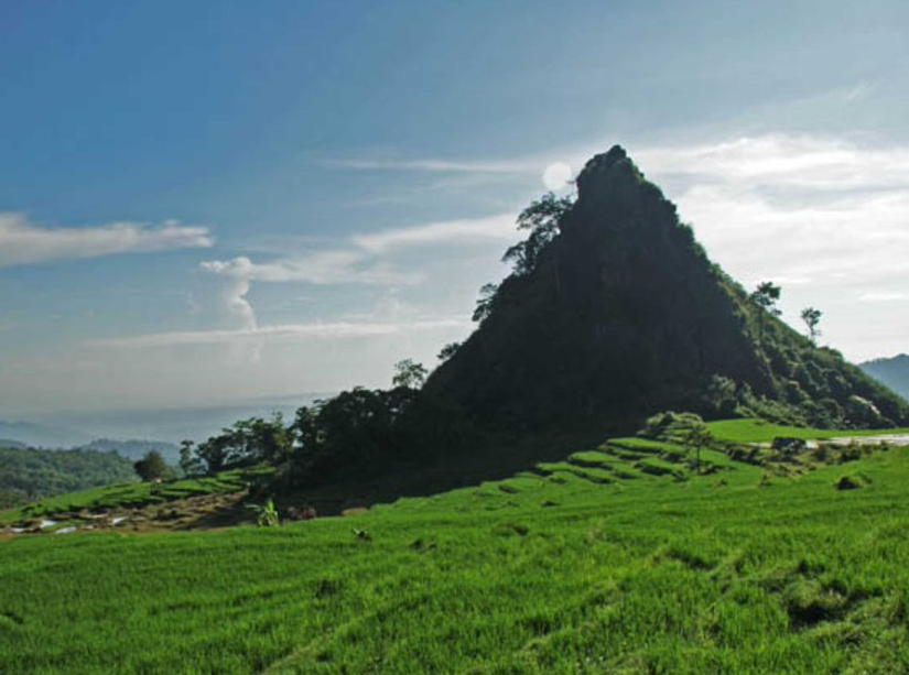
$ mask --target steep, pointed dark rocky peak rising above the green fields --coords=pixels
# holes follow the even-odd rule
[[[589,160],[576,184],[533,265],[498,286],[428,394],[508,431],[661,410],[909,424],[906,402],[756,306],[621,148]]]

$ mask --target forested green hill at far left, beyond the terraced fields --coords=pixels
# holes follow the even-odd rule
[[[94,450],[0,449],[0,493],[29,501],[73,490],[138,480],[132,462]]]

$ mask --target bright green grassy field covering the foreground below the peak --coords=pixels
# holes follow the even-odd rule
[[[711,476],[648,475],[645,460],[685,469],[672,446],[647,445],[280,530],[3,542],[0,663],[22,675],[909,668],[909,450],[767,485],[719,454],[705,457],[721,465]],[[867,488],[834,490],[856,472]]]

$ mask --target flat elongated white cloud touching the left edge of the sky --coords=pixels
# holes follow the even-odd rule
[[[0,213],[0,268],[115,253],[207,248],[208,228],[167,220],[159,226],[111,222],[85,228],[44,228],[20,214]]]

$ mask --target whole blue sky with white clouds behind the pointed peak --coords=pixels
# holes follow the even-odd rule
[[[793,325],[907,351],[907,25],[899,0],[0,0],[0,417],[432,366],[515,215],[613,143]]]

